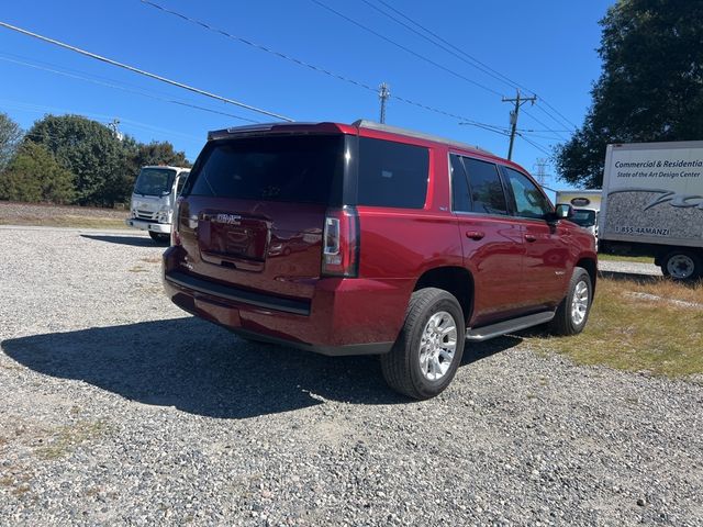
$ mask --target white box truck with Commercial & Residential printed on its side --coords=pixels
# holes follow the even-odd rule
[[[673,279],[703,277],[703,141],[607,145],[600,239]]]

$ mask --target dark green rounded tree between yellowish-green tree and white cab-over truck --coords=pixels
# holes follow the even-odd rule
[[[75,176],[79,204],[112,206],[124,201],[120,182],[125,152],[107,126],[80,115],[46,115],[34,123],[26,139],[44,145]]]

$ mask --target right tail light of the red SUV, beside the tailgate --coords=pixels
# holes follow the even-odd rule
[[[350,206],[328,209],[323,235],[322,274],[356,278],[359,272],[359,216]]]

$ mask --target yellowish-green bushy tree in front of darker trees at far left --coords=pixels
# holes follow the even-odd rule
[[[0,199],[70,203],[74,176],[63,168],[43,145],[24,142],[0,173]]]

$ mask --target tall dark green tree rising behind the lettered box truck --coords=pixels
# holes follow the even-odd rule
[[[620,0],[601,20],[603,71],[561,179],[601,187],[609,143],[703,139],[703,1]]]

